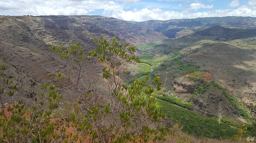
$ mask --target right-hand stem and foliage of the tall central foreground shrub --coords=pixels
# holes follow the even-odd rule
[[[115,136],[110,136],[113,139],[112,141],[115,142],[135,141],[138,137],[143,139],[144,142],[164,140],[166,132],[164,128],[157,126],[157,128],[151,129],[149,127],[154,123],[160,123],[165,115],[155,105],[155,98],[151,96],[154,88],[146,84],[148,77],[146,80],[139,81],[137,79],[129,86],[120,82],[119,75],[128,74],[128,71],[123,71],[123,67],[126,64],[140,62],[139,58],[132,55],[136,50],[135,47],[128,47],[129,43],[119,44],[115,37],[112,42],[108,42],[102,36],[99,40],[93,39],[93,41],[97,47],[94,51],[90,51],[89,55],[105,65],[102,77],[108,81],[108,87],[111,87],[110,95],[118,99],[117,105],[119,105],[119,112],[117,112],[119,119],[115,117],[117,118],[114,119],[116,121],[112,122],[110,128],[108,127],[108,130],[104,133],[109,133],[109,135],[113,132],[117,133]],[[159,90],[162,85],[160,77],[155,76],[154,84],[157,85]],[[145,95],[142,94],[144,87]],[[111,101],[112,104],[116,103]],[[111,106],[109,109],[111,109],[111,112],[106,116],[113,116],[116,111]]]

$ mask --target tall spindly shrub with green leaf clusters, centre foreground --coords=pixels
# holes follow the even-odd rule
[[[50,47],[50,50],[57,52],[65,62],[69,61],[67,65],[70,65],[68,68],[71,73],[78,73],[73,76],[76,77],[76,82],[70,81],[69,77],[66,78],[61,73],[57,74],[56,78],[58,82],[61,79],[63,83],[75,84],[71,87],[80,94],[77,96],[79,103],[82,109],[86,109],[81,110],[84,115],[81,120],[92,123],[91,132],[94,132],[98,141],[101,142],[127,142],[137,139],[144,142],[164,140],[166,130],[160,123],[165,115],[159,111],[155,98],[151,96],[155,89],[147,84],[148,77],[147,80],[135,80],[131,85],[122,82],[121,75],[129,74],[125,71],[125,66],[140,62],[140,59],[133,55],[136,48],[129,47],[129,43],[119,43],[115,37],[112,42],[108,42],[102,36],[98,40],[93,38],[93,41],[96,47],[88,53],[88,56],[80,48],[79,42],[64,50],[63,44]],[[106,91],[109,92],[105,95],[104,103],[93,101],[92,97],[97,94],[88,92],[83,87],[84,84],[79,84],[79,82],[86,82],[83,81],[83,74],[81,74],[82,66],[85,65],[86,59],[89,61],[91,58],[97,59],[100,64],[104,65],[102,78],[106,81]],[[73,64],[78,68],[70,68]],[[159,80],[160,78],[155,76],[153,82],[158,90],[162,84]],[[76,120],[76,122],[81,121]],[[78,124],[76,128],[79,126]]]

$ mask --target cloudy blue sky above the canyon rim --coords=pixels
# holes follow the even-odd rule
[[[127,21],[256,17],[256,0],[0,0],[0,15],[100,15]]]

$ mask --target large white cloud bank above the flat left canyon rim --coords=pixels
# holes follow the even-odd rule
[[[6,0],[0,1],[0,15],[83,15],[95,10],[107,14],[123,7],[111,0]]]

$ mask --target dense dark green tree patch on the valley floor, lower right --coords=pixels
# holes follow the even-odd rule
[[[237,129],[226,123],[219,123],[214,117],[207,118],[159,99],[157,102],[160,110],[173,121],[180,122],[187,133],[207,137],[231,137],[237,134]]]

